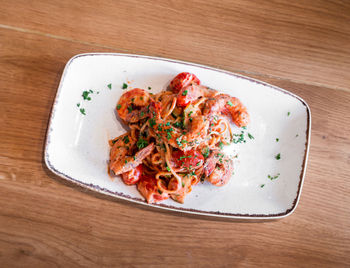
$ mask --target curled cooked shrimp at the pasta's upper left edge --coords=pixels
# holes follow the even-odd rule
[[[143,89],[134,88],[125,92],[117,104],[117,112],[122,120],[135,123],[147,117],[150,95]]]

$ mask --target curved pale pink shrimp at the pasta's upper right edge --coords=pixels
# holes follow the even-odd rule
[[[213,116],[220,113],[229,115],[238,127],[244,127],[249,123],[247,108],[239,99],[227,94],[219,94],[205,103],[204,115]]]

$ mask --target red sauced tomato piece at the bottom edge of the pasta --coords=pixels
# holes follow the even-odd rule
[[[142,175],[137,184],[137,189],[146,198],[148,203],[155,203],[169,198],[167,193],[158,191],[157,180],[148,175]]]

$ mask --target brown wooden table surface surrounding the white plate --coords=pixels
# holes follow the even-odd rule
[[[349,1],[0,0],[1,267],[350,263]],[[126,52],[285,88],[311,107],[299,206],[283,220],[168,213],[66,185],[43,163],[67,60]]]

